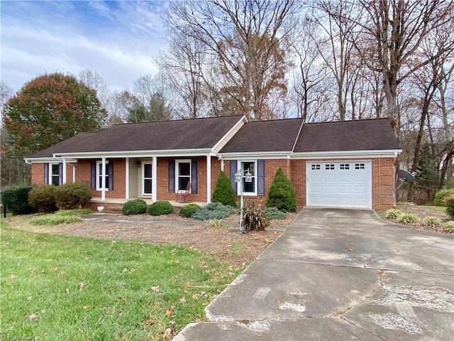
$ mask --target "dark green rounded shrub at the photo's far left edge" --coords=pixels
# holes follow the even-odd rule
[[[10,210],[13,215],[29,215],[36,212],[35,207],[28,202],[28,193],[31,185],[12,185],[1,193],[1,204]]]

